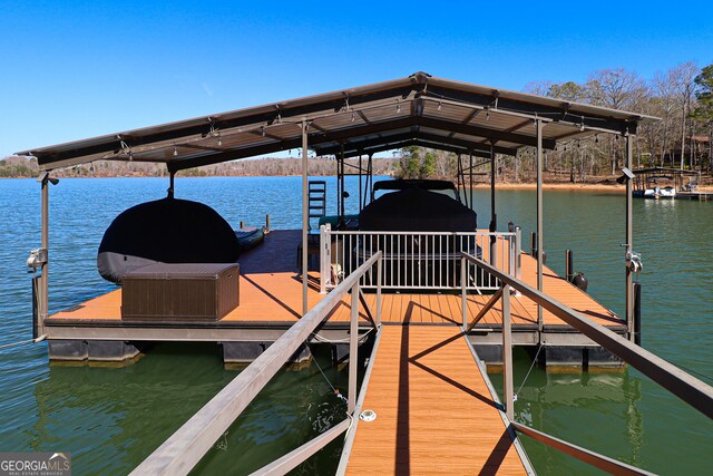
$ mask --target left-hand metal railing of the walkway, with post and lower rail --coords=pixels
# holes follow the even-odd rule
[[[367,307],[365,300],[361,299],[360,281],[375,264],[378,271],[375,281],[377,309],[375,320],[372,323],[378,329],[381,326],[381,285],[378,278],[381,275],[381,253],[377,252],[365,260],[361,266],[354,270],[351,275],[344,279],[302,319],[285,331],[265,352],[164,441],[131,472],[131,475],[173,476],[188,474],[273,376],[285,365],[287,359],[310,339],[318,326],[342,302],[342,298],[351,292],[348,418],[254,474],[285,474],[346,431],[353,420],[353,411],[356,405],[355,357],[359,346],[359,302],[361,301]],[[365,308],[365,311],[371,318],[372,313],[369,308]]]

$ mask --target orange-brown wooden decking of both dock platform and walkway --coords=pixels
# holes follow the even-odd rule
[[[275,336],[301,318],[302,282],[296,272],[300,240],[299,231],[273,231],[264,244],[241,256],[240,305],[218,322],[127,324],[121,321],[121,290],[117,289],[53,314],[46,323],[57,332],[66,329],[75,332],[65,336],[84,336],[76,333],[84,329],[89,337],[80,339],[116,340],[117,336],[125,336],[120,340],[131,340],[140,336],[137,340],[162,340],[170,328],[170,340],[194,340],[198,339],[198,330],[209,328],[212,333],[205,333],[203,340],[270,340],[264,337],[267,334],[245,337],[245,333],[229,332],[272,329],[270,336]],[[522,280],[536,285],[536,261],[527,254],[521,259]],[[547,294],[600,324],[622,328],[623,322],[592,297],[550,269],[545,268],[544,272]],[[319,292],[319,275],[310,273],[310,307],[323,297]],[[329,317],[330,324],[339,332],[345,332],[350,299],[345,297]],[[374,310],[375,295],[367,294],[365,300]],[[489,300],[490,295],[468,295],[469,322]],[[514,331],[519,328],[528,336],[537,334],[537,305],[517,295],[510,302]],[[363,311],[361,315],[367,318]],[[363,409],[374,410],[378,418],[359,422],[348,470],[351,474],[525,474],[524,463],[468,347],[467,339],[472,341],[473,336],[463,336],[459,327],[462,323],[460,294],[384,293],[382,322],[363,402]],[[501,323],[498,302],[479,324],[492,329],[481,333],[499,334]],[[544,312],[544,324],[568,328],[549,312]]]

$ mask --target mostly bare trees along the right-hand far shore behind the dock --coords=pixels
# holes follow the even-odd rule
[[[592,72],[584,82],[536,81],[526,93],[623,109],[661,118],[639,126],[634,143],[635,167],[676,167],[711,174],[713,157],[713,65],[699,68],[688,61],[652,79],[625,68]],[[625,161],[624,140],[608,134],[560,143],[545,155],[545,172],[569,182],[618,174]],[[398,155],[401,177],[456,176],[453,154],[407,147]],[[535,152],[497,156],[496,176],[511,182],[536,175]],[[480,161],[479,161],[480,162]],[[484,164],[481,173],[489,172]]]

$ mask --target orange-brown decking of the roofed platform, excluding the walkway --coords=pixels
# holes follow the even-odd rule
[[[285,324],[295,322],[302,315],[302,282],[296,273],[296,246],[300,243],[299,231],[273,231],[265,236],[265,243],[241,256],[241,304],[224,317],[217,324]],[[621,327],[622,321],[590,295],[575,288],[550,269],[545,266],[544,290],[547,294],[573,309],[588,315],[603,326]],[[522,254],[522,280],[530,285],[537,282],[537,263]],[[310,307],[316,304],[323,294],[319,292],[319,275],[310,273]],[[469,319],[472,319],[489,300],[489,295],[469,295]],[[373,309],[375,295],[367,294],[367,301]],[[76,307],[52,314],[48,323],[64,322],[101,324],[121,322],[121,290],[90,299]],[[384,293],[382,300],[382,321],[384,323],[461,323],[460,295],[447,293],[409,294]],[[524,297],[514,297],[512,323],[515,326],[537,324],[537,305]],[[344,298],[331,322],[349,321],[349,298]],[[365,318],[365,315],[363,315]],[[501,304],[496,304],[480,321],[481,324],[499,326],[502,322]],[[566,326],[554,314],[544,312],[545,326]]]

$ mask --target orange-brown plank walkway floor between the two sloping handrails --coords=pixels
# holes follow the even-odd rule
[[[384,327],[349,474],[525,474],[456,326]]]

